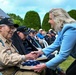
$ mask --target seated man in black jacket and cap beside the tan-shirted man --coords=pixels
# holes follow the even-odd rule
[[[32,43],[27,39],[29,30],[26,26],[20,26],[12,36],[12,43],[17,48],[21,55],[28,54],[36,50]]]

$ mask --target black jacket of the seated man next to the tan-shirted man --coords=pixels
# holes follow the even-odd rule
[[[34,50],[37,51],[37,49],[29,42],[29,40],[26,39],[22,41],[17,32],[15,32],[12,36],[12,43],[21,55],[28,54]]]

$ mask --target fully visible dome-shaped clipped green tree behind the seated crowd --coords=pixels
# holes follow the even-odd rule
[[[24,17],[24,25],[29,28],[40,29],[41,28],[41,20],[39,14],[35,11],[28,11]]]

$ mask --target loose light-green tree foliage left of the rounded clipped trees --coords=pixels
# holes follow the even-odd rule
[[[14,13],[9,13],[8,15],[13,19],[15,24],[23,25],[23,19],[19,15],[17,16]]]

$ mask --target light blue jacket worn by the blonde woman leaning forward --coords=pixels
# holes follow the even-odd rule
[[[48,68],[56,69],[56,67],[66,60],[69,55],[76,58],[76,23],[64,25],[62,30],[58,32],[58,36],[54,43],[44,48],[42,51],[45,55],[49,55],[58,47],[60,47],[59,54],[46,62]]]

